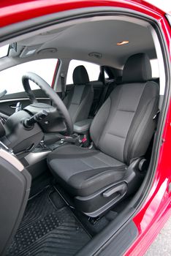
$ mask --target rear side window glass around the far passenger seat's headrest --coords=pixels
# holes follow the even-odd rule
[[[86,62],[86,61],[77,61],[75,59],[72,59],[72,61],[69,62],[69,68],[66,76],[66,84],[73,83],[73,80],[72,80],[73,71],[75,67],[80,65],[83,65],[84,67],[86,67],[90,81],[98,80],[99,72],[100,72],[99,65]]]

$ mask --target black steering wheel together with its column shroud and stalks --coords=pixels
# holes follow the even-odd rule
[[[45,91],[53,106],[37,102],[29,85],[30,80]],[[45,133],[61,132],[72,135],[73,131],[72,119],[66,106],[45,80],[39,75],[27,72],[23,75],[22,82],[31,105],[7,118],[4,124],[4,136],[1,138],[1,142],[12,148],[18,157],[23,157],[32,151],[44,138]]]

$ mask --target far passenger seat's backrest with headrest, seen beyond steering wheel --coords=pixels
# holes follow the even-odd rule
[[[88,118],[94,99],[94,90],[91,83],[89,83],[88,73],[83,65],[75,67],[73,82],[75,86],[67,94],[64,103],[69,110],[73,123],[75,123]]]

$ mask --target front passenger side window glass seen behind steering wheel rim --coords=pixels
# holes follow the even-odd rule
[[[1,91],[6,89],[7,94],[24,91],[21,78],[25,72],[34,72],[51,86],[57,61],[57,59],[28,61],[2,70],[0,72]],[[39,89],[39,87],[33,82],[30,82],[30,85],[31,89]]]

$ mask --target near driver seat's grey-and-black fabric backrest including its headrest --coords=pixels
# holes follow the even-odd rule
[[[145,154],[156,127],[153,116],[159,106],[159,86],[150,79],[148,56],[129,57],[123,84],[115,87],[91,124],[95,146],[127,165]]]

